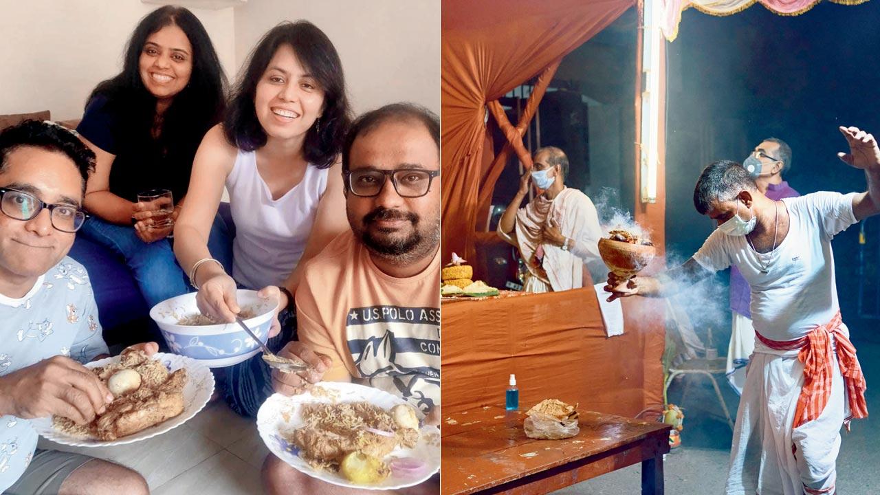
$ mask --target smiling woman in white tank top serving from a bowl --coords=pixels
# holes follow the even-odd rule
[[[340,58],[326,35],[298,21],[263,36],[224,123],[209,130],[195,155],[174,228],[174,253],[199,290],[202,314],[235,321],[237,285],[279,299],[280,311],[292,308],[298,267],[348,229],[339,153],[349,124]],[[224,186],[237,231],[231,276],[213,262],[207,245]],[[270,336],[279,330],[275,321]],[[270,347],[293,336],[273,338]],[[259,365],[253,370],[268,378]],[[230,373],[238,372],[227,368],[227,379]],[[227,389],[233,409],[256,413],[261,394],[230,394]]]

